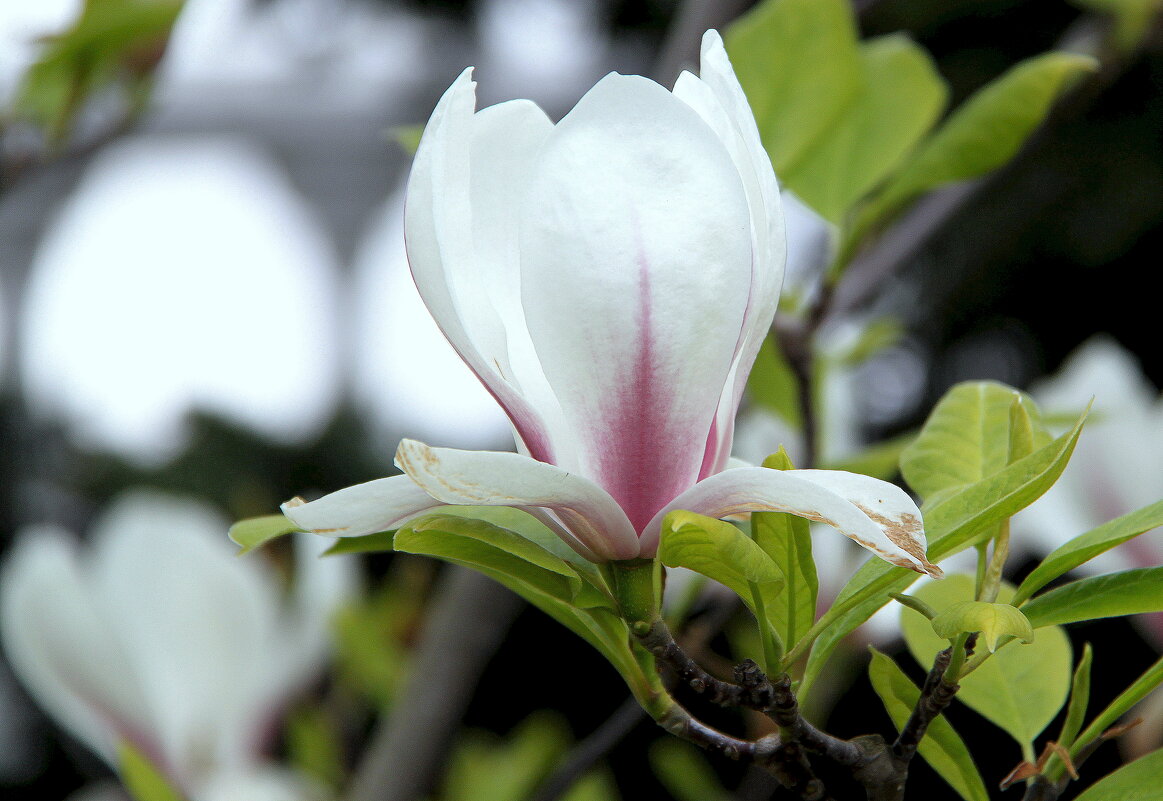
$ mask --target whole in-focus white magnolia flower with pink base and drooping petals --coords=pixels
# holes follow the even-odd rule
[[[556,126],[534,103],[475,112],[466,70],[408,185],[412,273],[505,409],[519,453],[405,439],[404,475],[285,514],[330,536],[447,503],[523,508],[587,559],[652,557],[672,509],[773,509],[937,573],[899,488],[841,472],[730,466],[734,417],[776,312],[779,189],[722,41],[673,93],[600,80]]]

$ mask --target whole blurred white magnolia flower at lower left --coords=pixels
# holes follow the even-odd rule
[[[286,599],[262,560],[237,559],[200,505],[129,495],[78,546],[26,531],[2,568],[0,635],[13,670],[63,728],[114,768],[128,743],[193,801],[301,800],[264,761],[274,715],[322,667],[354,564],[297,542]],[[245,788],[245,793],[240,794]]]

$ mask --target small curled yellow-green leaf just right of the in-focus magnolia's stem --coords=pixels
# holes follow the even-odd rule
[[[763,549],[730,523],[693,512],[676,510],[663,518],[658,558],[668,567],[686,567],[729,587],[751,608],[751,584],[764,606],[776,603],[784,579]]]

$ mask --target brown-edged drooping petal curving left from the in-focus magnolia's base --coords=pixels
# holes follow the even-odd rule
[[[633,559],[638,538],[618,502],[593,481],[520,453],[429,448],[405,439],[395,464],[429,495],[465,506],[543,507],[600,559]]]

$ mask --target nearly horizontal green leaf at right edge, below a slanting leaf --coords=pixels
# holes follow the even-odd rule
[[[1163,612],[1163,567],[1140,567],[1071,581],[1027,601],[1022,612],[1034,628]]]

